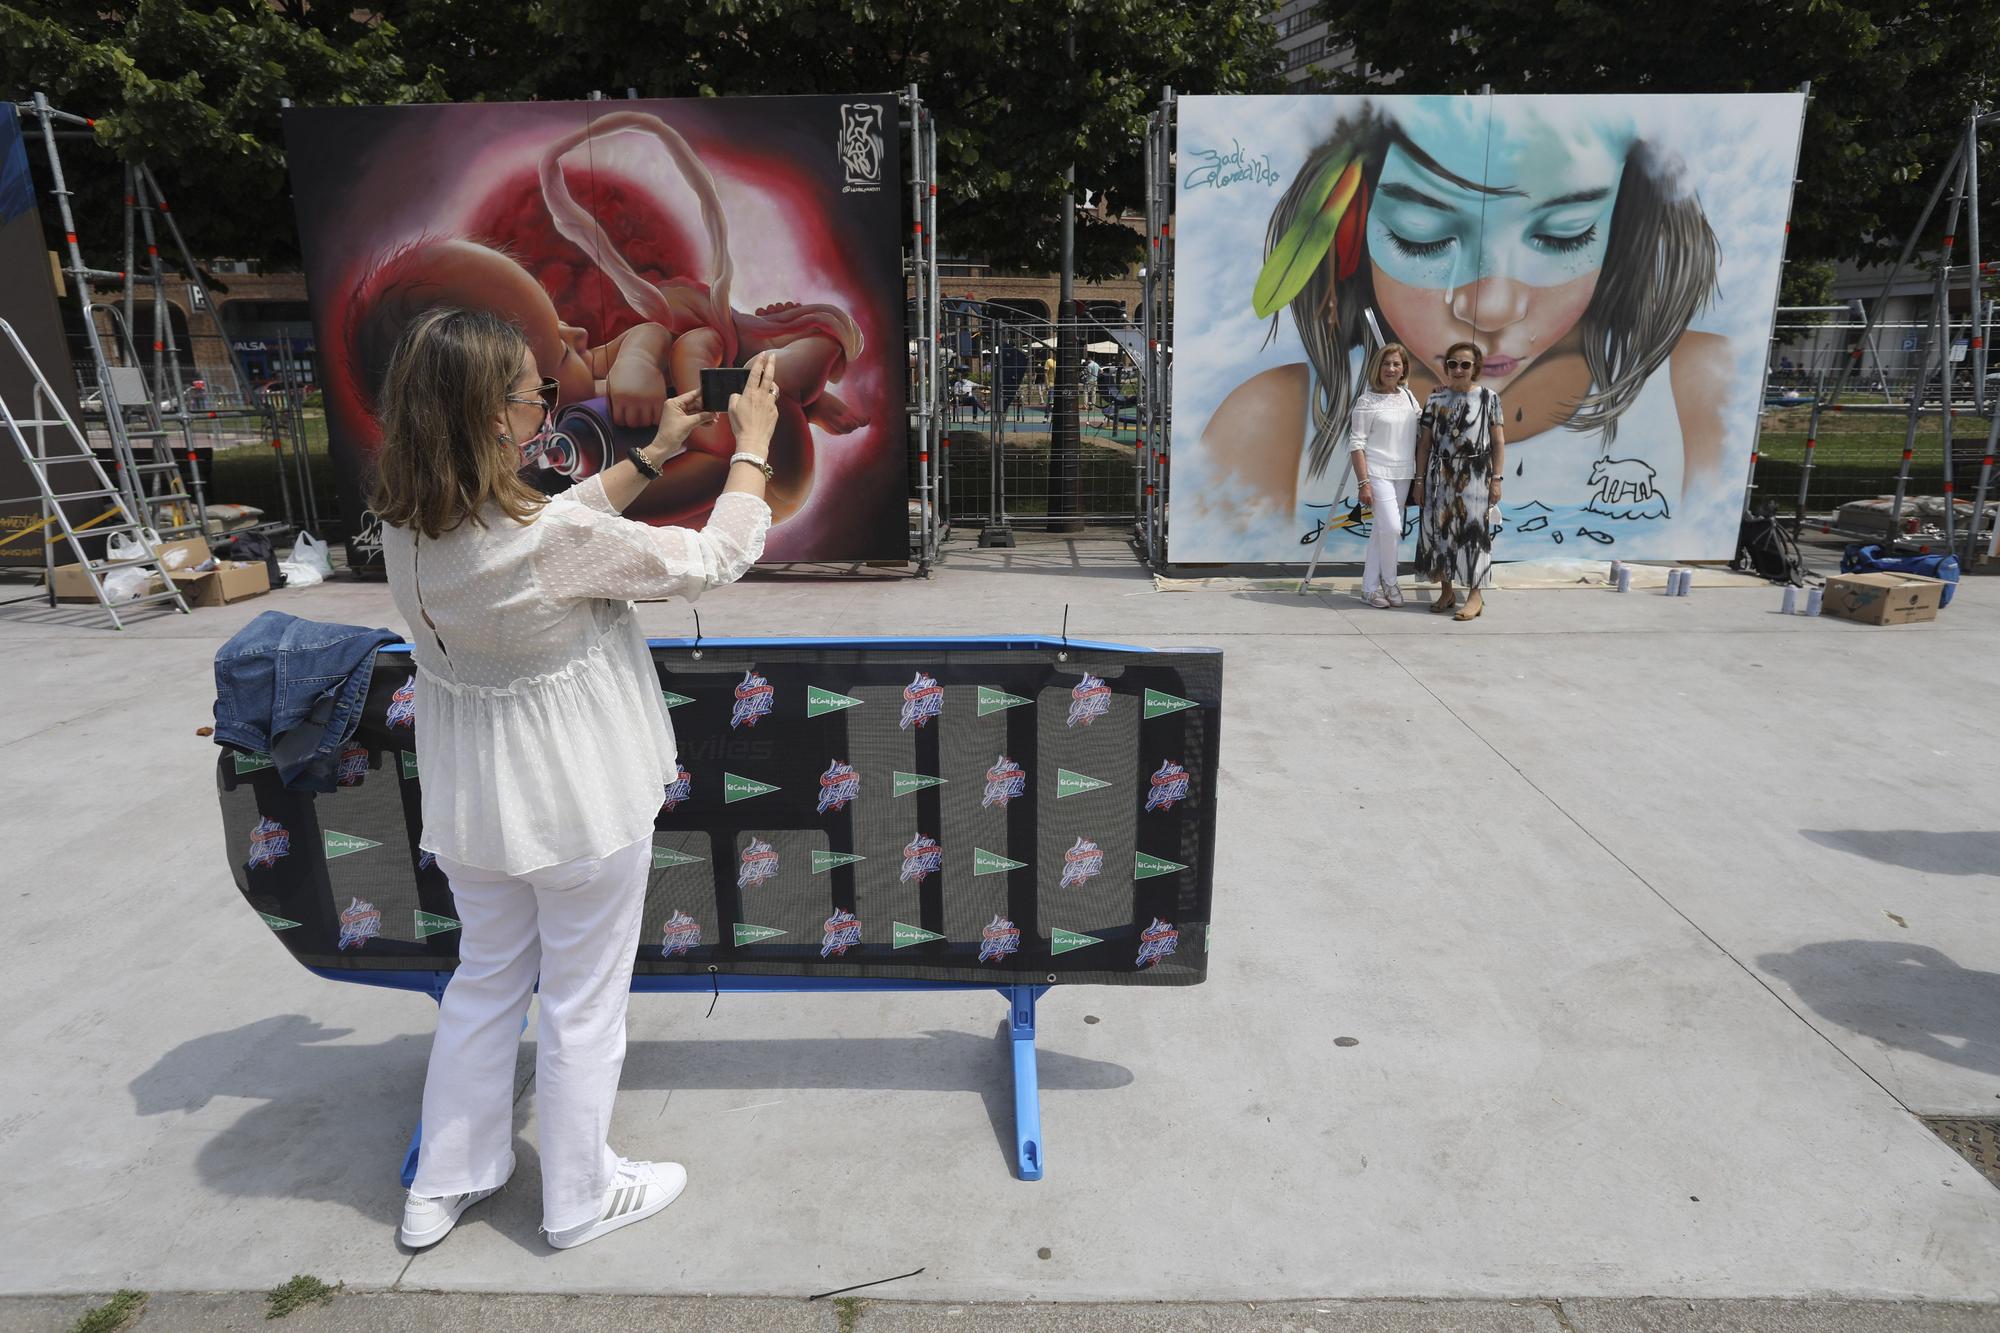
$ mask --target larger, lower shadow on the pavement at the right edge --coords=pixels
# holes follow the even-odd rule
[[[1840,939],[1760,955],[1814,1013],[1886,1047],[2000,1073],[2000,973],[1924,945]]]

